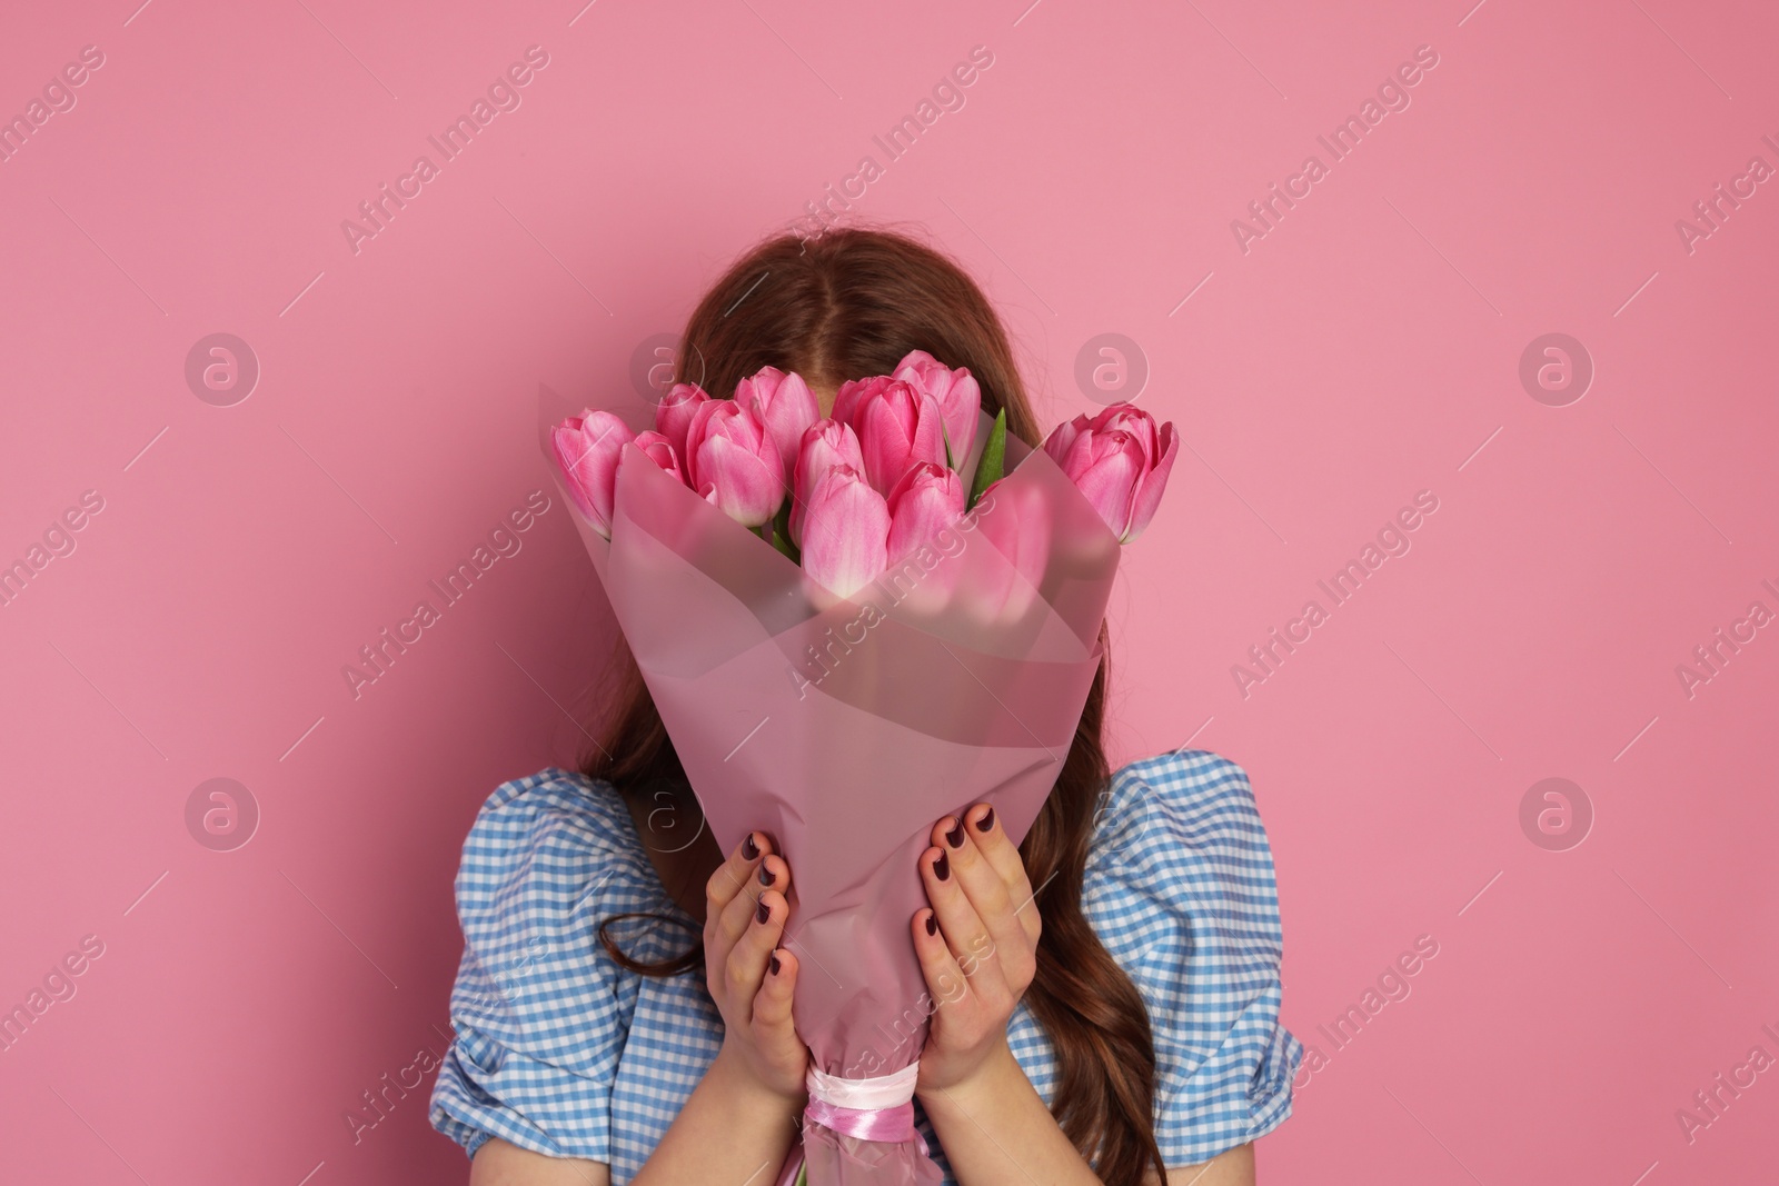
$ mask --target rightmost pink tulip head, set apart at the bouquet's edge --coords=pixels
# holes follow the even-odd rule
[[[1089,420],[1059,425],[1044,452],[1080,487],[1105,525],[1128,544],[1155,517],[1179,452],[1174,425],[1155,427],[1149,413],[1114,404]]]

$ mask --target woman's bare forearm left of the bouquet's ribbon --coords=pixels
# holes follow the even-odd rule
[[[770,1182],[797,1136],[802,1101],[763,1088],[719,1053],[635,1186]]]

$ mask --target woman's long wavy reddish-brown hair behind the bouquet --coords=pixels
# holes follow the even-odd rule
[[[898,231],[847,228],[760,244],[692,313],[676,375],[724,397],[761,366],[838,386],[890,373],[916,349],[948,366],[968,366],[982,388],[982,407],[989,414],[1005,411],[1009,434],[1028,445],[1041,441],[1007,333],[982,290],[945,254]],[[617,651],[616,695],[601,740],[587,747],[580,768],[608,782],[644,818],[646,800],[664,789],[683,795],[687,779],[628,647],[619,642]],[[1108,1182],[1142,1181],[1151,1166],[1158,1181],[1167,1181],[1155,1143],[1149,1015],[1082,914],[1087,845],[1110,777],[1099,736],[1105,701],[1101,661],[1062,773],[1019,845],[1042,918],[1037,971],[1025,1001],[1055,1051],[1051,1115],[1064,1134]],[[669,893],[683,893],[713,873],[696,868],[697,852],[685,846],[662,853],[672,871],[664,877]],[[703,966],[699,935],[671,960],[630,958],[612,937],[612,925],[626,918],[639,916],[621,914],[600,925],[600,942],[623,967],[676,976]]]

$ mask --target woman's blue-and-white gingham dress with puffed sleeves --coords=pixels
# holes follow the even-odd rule
[[[1247,773],[1206,750],[1119,770],[1096,818],[1082,909],[1149,1008],[1162,1161],[1208,1161],[1277,1127],[1292,1113],[1302,1044],[1279,1024],[1277,885]],[[642,976],[600,946],[600,921],[626,910],[685,923],[614,925],[637,960],[699,941],[610,786],[551,766],[487,798],[457,871],[455,1040],[429,1113],[471,1158],[500,1136],[603,1161],[623,1186],[717,1056],[722,1015],[701,971]],[[1050,1038],[1023,1001],[1007,1040],[1051,1102]],[[914,1122],[955,1182],[920,1101]]]

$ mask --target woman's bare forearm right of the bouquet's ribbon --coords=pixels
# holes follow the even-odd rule
[[[920,1106],[961,1186],[1099,1184],[1005,1044],[966,1083],[922,1092]]]

